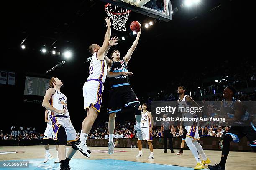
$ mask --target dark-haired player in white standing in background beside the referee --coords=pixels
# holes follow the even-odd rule
[[[149,150],[150,150],[150,155],[148,159],[154,159],[153,155],[153,145],[152,145],[152,128],[154,124],[154,120],[152,117],[151,112],[147,111],[147,105],[145,103],[142,104],[142,116],[141,116],[141,131],[143,134],[143,140],[147,140]],[[142,154],[142,145],[141,145],[141,140],[138,138],[138,149],[139,153],[136,156],[136,158],[140,158]]]

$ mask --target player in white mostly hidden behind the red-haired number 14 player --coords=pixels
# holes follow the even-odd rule
[[[58,158],[58,148],[59,148],[59,141],[56,138],[56,135],[54,133],[54,131],[52,130],[51,127],[51,111],[49,110],[45,110],[45,114],[44,114],[44,121],[47,123],[47,127],[44,131],[44,138],[43,138],[43,143],[44,143],[44,149],[45,149],[45,158],[44,158],[44,163],[46,163],[52,156],[49,152],[49,140],[53,139],[55,144],[56,144],[56,151],[57,151],[57,158],[54,161],[54,163],[58,163],[59,162],[59,158]]]

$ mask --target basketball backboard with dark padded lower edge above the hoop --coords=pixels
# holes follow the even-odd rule
[[[143,14],[143,15],[147,15],[149,17],[156,18],[156,19],[159,19],[159,20],[163,20],[163,21],[166,21],[166,22],[172,20],[172,13],[171,13],[172,4],[171,4],[171,1],[169,1],[169,0],[166,0],[166,1],[169,1],[166,5],[167,14],[159,13],[156,10],[141,6],[141,4],[139,5],[141,7],[137,7],[135,5],[128,4],[127,2],[123,2],[122,0],[100,0],[100,1],[105,2],[105,3],[110,3],[112,5],[116,5],[116,6],[119,6],[119,7],[123,7],[123,8],[126,8],[128,10],[132,10],[133,12],[140,13],[140,14]],[[146,1],[146,2],[148,2],[148,1]],[[135,4],[136,4],[136,2],[135,2]]]

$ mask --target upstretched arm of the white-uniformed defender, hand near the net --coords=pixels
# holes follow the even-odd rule
[[[107,32],[105,34],[104,37],[104,42],[102,47],[98,50],[97,52],[97,59],[98,60],[104,60],[105,57],[105,52],[108,49],[108,45],[109,45],[109,41],[110,41],[110,35],[111,35],[111,22],[110,22],[110,18],[106,17],[105,21],[107,23]]]

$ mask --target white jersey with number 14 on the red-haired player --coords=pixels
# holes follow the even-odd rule
[[[55,89],[55,93],[51,96],[50,104],[57,110],[66,109],[65,116],[69,117],[69,111],[67,109],[67,97]],[[57,115],[64,115],[64,114],[57,114],[55,112],[50,113],[50,117],[57,116]]]

